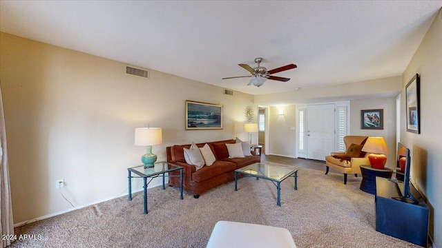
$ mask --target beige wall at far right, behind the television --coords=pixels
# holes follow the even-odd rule
[[[421,78],[421,134],[406,130],[405,85]],[[430,236],[442,247],[442,16],[441,12],[403,73],[401,143],[412,149],[412,179],[431,205]]]

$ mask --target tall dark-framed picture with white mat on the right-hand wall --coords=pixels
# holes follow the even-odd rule
[[[420,88],[419,74],[405,86],[405,111],[407,112],[407,131],[415,134],[421,133],[421,116],[419,114]]]

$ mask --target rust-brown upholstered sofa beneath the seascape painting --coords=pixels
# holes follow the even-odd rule
[[[166,147],[167,162],[184,167],[183,169],[183,187],[186,192],[193,194],[198,198],[202,192],[218,185],[222,185],[235,179],[235,169],[258,163],[261,156],[246,156],[245,158],[229,158],[229,151],[226,143],[235,143],[235,140],[206,142],[211,148],[216,158],[211,166],[204,166],[196,170],[195,165],[189,165],[184,159],[184,148],[191,145],[173,145]],[[196,144],[203,147],[206,143]],[[254,152],[252,152],[254,154]],[[180,172],[169,172],[171,175],[180,175]],[[169,185],[180,187],[180,177],[169,177]]]

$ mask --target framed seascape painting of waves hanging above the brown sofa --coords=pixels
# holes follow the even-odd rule
[[[186,130],[222,129],[222,105],[186,100]]]

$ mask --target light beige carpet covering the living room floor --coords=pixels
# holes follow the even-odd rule
[[[16,234],[41,235],[12,247],[205,247],[218,220],[284,227],[298,247],[418,247],[375,230],[374,196],[359,189],[361,178],[324,175],[298,168],[281,183],[281,206],[269,180],[240,178],[195,199],[179,189],[148,189],[148,214],[142,192],[17,227]]]

